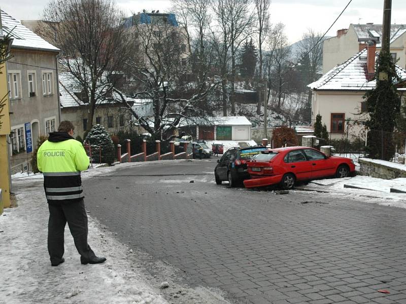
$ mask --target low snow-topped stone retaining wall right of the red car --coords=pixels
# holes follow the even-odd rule
[[[358,162],[361,175],[383,179],[406,177],[406,166],[402,164],[367,158],[361,158]]]

